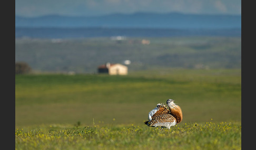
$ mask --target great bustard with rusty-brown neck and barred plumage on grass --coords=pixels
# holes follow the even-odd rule
[[[157,104],[156,108],[149,112],[149,121],[144,122],[147,126],[161,126],[170,129],[182,121],[183,115],[179,105],[174,103],[174,100],[166,101],[169,109],[164,104]],[[161,128],[161,129],[162,129]]]

